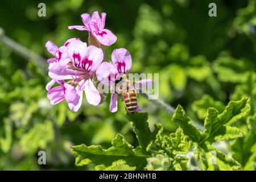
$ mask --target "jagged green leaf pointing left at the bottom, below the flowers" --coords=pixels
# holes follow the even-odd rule
[[[121,134],[117,134],[112,140],[112,147],[103,149],[101,146],[72,146],[72,154],[76,158],[76,166],[84,166],[90,163],[96,166],[104,165],[109,167],[117,160],[123,160],[130,167],[142,169],[146,166],[146,158],[139,150],[135,150],[131,144],[127,143]],[[101,166],[102,167],[102,166]],[[100,169],[101,167],[97,167]]]

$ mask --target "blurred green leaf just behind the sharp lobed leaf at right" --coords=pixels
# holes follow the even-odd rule
[[[209,107],[214,107],[219,112],[224,111],[225,106],[220,101],[214,101],[212,97],[204,95],[201,100],[195,101],[192,104],[192,110],[196,112],[199,119],[204,119],[207,117],[207,109]]]

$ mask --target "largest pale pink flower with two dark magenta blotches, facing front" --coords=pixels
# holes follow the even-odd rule
[[[71,85],[76,85],[76,96],[68,101],[69,108],[73,111],[79,110],[83,91],[89,104],[100,104],[100,93],[93,85],[91,77],[103,60],[102,50],[95,46],[87,47],[86,43],[76,39],[68,44],[64,55],[68,55],[67,63],[59,64],[58,61],[52,63],[49,65],[48,75],[53,80],[69,80]],[[61,94],[61,98],[62,96]]]

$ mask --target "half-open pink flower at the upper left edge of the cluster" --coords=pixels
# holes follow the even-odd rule
[[[49,53],[51,53],[54,57],[50,58],[47,60],[49,64],[58,62],[60,65],[67,65],[68,62],[70,61],[69,56],[68,56],[68,45],[73,41],[73,40],[79,40],[79,38],[72,38],[68,39],[64,46],[61,46],[58,48],[53,42],[48,41],[46,43],[46,48]]]

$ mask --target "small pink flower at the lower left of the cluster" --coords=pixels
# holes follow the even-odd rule
[[[55,82],[57,82],[57,84],[60,86],[56,86],[55,88],[51,89]],[[72,103],[76,98],[76,89],[63,80],[51,80],[48,82],[46,89],[48,90],[47,97],[51,101],[52,105],[58,104],[59,102],[63,101],[64,98],[68,103]]]

